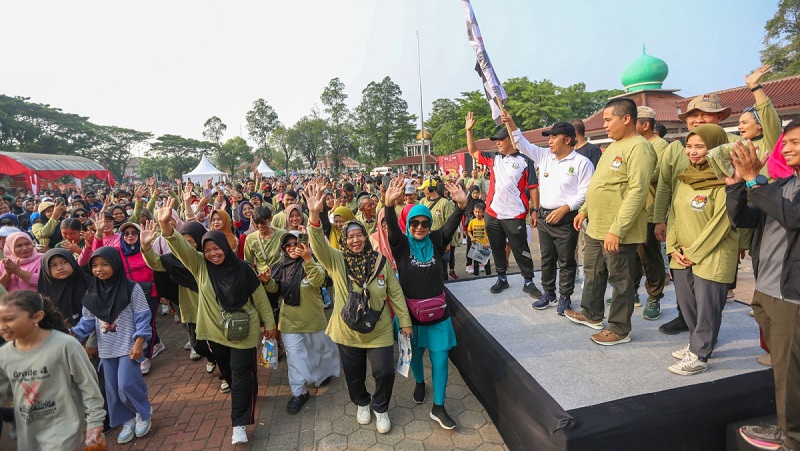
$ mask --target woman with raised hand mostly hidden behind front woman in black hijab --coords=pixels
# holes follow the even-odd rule
[[[173,211],[174,212],[174,211]],[[171,222],[170,222],[171,224]],[[203,235],[206,233],[205,227],[196,221],[187,222],[180,229],[180,234],[183,238],[195,248],[200,250],[200,242]],[[156,238],[158,237],[158,238]],[[162,274],[170,279],[172,283],[177,285],[177,299],[181,322],[186,324],[186,330],[189,333],[189,345],[191,349],[197,354],[197,358],[206,358],[206,372],[213,373],[217,367],[217,360],[205,340],[197,339],[197,303],[198,303],[198,286],[197,280],[188,269],[181,263],[181,261],[172,254],[172,252],[159,255],[155,251],[154,244],[158,239],[163,237],[158,236],[158,230],[155,222],[148,222],[142,230],[142,255],[144,261],[147,263],[156,275]],[[164,240],[166,243],[166,240]],[[169,245],[167,245],[169,247]],[[223,381],[220,387],[222,393],[230,391],[228,383]]]

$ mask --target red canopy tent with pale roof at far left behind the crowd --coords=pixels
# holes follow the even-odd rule
[[[0,175],[25,178],[35,194],[39,193],[41,179],[56,180],[65,175],[79,179],[93,175],[108,182],[109,186],[114,186],[114,176],[103,165],[72,155],[0,152]]]

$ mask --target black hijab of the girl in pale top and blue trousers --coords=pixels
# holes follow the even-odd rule
[[[125,266],[117,248],[103,246],[94,251],[92,258],[89,259],[90,268],[97,257],[106,259],[111,264],[114,274],[108,280],[91,278],[86,296],[83,298],[83,306],[101,321],[113,324],[131,303],[131,294],[136,282],[125,277]]]

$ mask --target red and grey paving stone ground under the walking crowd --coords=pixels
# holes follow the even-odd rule
[[[538,240],[531,251],[538,269]],[[518,271],[511,258],[509,272]],[[456,272],[464,271],[465,247],[457,252]],[[742,265],[737,299],[749,302],[752,295],[750,264]],[[537,283],[538,284],[538,283]],[[310,388],[311,399],[297,415],[286,413],[290,397],[285,361],[277,370],[259,367],[259,396],[256,424],[248,427],[250,442],[230,444],[230,398],[219,393],[216,374],[207,374],[205,361],[189,360],[183,349],[186,332],[170,316],[158,316],[158,330],[167,349],[153,361],[146,381],[153,404],[153,429],[141,439],[117,445],[119,428],[108,435],[109,449],[115,450],[506,450],[497,428],[485,409],[467,388],[452,363],[445,406],[459,427],[446,431],[428,417],[433,396],[430,365],[426,364],[428,402],[417,405],[411,399],[413,378],[398,375],[389,408],[392,430],[379,434],[375,419],[368,425],[355,420],[356,407],[350,402],[344,377],[335,378],[321,389]],[[409,375],[410,376],[410,375]],[[370,388],[371,378],[367,377]],[[8,427],[0,435],[0,450],[15,449]]]

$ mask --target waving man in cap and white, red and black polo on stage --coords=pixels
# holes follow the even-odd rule
[[[539,208],[539,181],[533,161],[517,152],[505,127],[498,128],[491,137],[497,143],[498,152],[481,152],[472,136],[474,125],[475,116],[470,111],[464,126],[467,149],[472,158],[479,164],[489,166],[492,171],[486,196],[486,234],[497,268],[497,282],[491,291],[500,293],[509,287],[506,278],[508,258],[505,253],[508,242],[525,279],[522,291],[539,299],[542,292],[533,283],[533,259],[528,247],[528,224],[525,220],[528,213],[535,213]],[[537,222],[536,214],[531,214],[531,225],[536,227]]]

